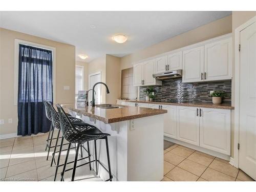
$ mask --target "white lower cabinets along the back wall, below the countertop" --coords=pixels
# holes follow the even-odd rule
[[[135,102],[126,102],[126,105],[135,106]],[[167,110],[164,136],[230,155],[230,110],[151,103],[136,105]]]

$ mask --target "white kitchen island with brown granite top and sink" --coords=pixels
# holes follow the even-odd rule
[[[71,115],[108,133],[114,181],[160,181],[163,178],[163,114],[166,110],[118,105],[103,109],[99,105],[77,108],[62,104]],[[98,158],[107,167],[104,140],[97,141]],[[90,151],[94,157],[94,145]],[[94,167],[95,165],[93,165]],[[99,166],[99,177],[108,173]]]

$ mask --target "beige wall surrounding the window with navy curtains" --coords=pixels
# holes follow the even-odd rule
[[[75,47],[60,42],[0,28],[0,135],[17,133],[17,105],[14,105],[14,39],[56,48],[56,102],[75,100]],[[70,90],[63,90],[70,86]],[[8,123],[8,118],[13,123]]]

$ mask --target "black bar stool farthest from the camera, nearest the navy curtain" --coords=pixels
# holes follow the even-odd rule
[[[52,140],[57,139],[58,137],[53,137],[54,134],[54,124],[52,121],[52,114],[51,114],[51,109],[49,107],[48,101],[43,100],[44,104],[45,104],[45,109],[46,109],[46,117],[51,121],[51,126],[50,126],[50,130],[49,130],[49,134],[48,134],[48,138],[46,140],[46,150],[48,149],[48,154],[47,154],[47,158],[46,160],[48,160],[49,158],[49,153],[51,148],[55,147],[52,146]],[[49,102],[50,103],[50,102]],[[67,114],[68,117],[72,117],[70,114]],[[60,137],[61,138],[61,137]],[[59,139],[59,138],[58,138]],[[57,143],[57,142],[56,142]]]

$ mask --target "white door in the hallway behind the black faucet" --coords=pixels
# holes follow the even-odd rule
[[[89,89],[93,89],[93,86],[96,82],[100,82],[101,81],[101,73],[94,73],[94,74],[90,74],[89,75]],[[95,103],[99,104],[101,102],[101,84],[97,84],[97,86],[95,87]],[[92,94],[93,92],[90,91],[89,92],[89,103],[92,101]]]

